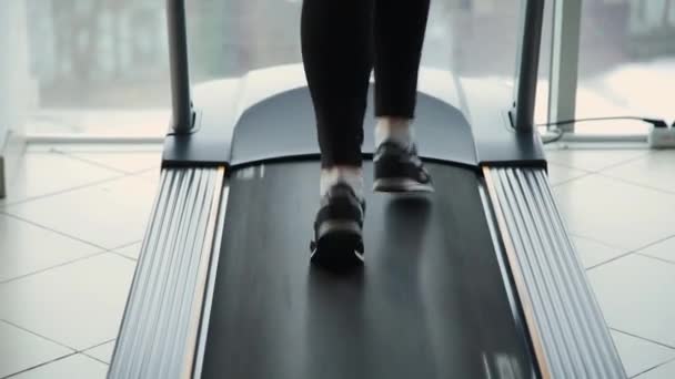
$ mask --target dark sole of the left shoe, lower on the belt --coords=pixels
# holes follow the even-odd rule
[[[363,236],[353,222],[325,222],[319,229],[319,239],[312,250],[312,264],[345,269],[363,265]]]

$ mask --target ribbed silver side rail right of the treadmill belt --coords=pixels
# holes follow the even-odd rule
[[[627,378],[542,168],[484,167],[543,378]]]

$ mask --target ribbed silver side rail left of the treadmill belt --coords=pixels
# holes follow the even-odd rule
[[[109,379],[191,377],[224,167],[164,168]]]

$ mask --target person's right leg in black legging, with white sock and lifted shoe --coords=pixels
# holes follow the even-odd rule
[[[376,191],[432,191],[412,121],[430,0],[375,0]],[[403,163],[401,163],[403,162]]]

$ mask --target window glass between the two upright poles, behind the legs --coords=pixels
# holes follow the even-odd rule
[[[301,61],[301,1],[189,0],[188,6],[198,80]],[[511,79],[520,11],[518,0],[432,1],[422,64]]]

